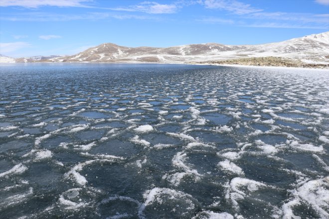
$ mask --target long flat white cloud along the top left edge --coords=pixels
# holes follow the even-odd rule
[[[40,6],[58,6],[58,7],[88,7],[81,4],[90,0],[1,0],[0,6],[21,6],[28,8],[37,8]]]

